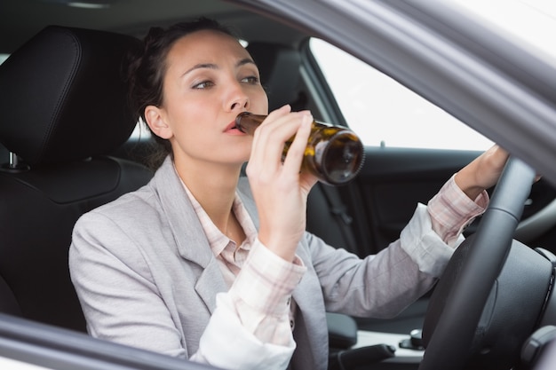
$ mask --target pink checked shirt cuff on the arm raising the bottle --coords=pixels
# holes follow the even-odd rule
[[[229,294],[260,313],[282,316],[290,311],[291,293],[305,272],[298,256],[290,263],[256,240]]]

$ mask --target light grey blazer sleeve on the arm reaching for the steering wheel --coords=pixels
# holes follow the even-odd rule
[[[425,206],[417,207],[401,239],[364,259],[307,238],[327,311],[359,317],[393,318],[433,287],[453,253],[433,232]]]

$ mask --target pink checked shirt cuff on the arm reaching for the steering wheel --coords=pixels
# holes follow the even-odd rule
[[[454,176],[428,202],[432,227],[441,240],[455,247],[465,227],[488,206],[488,193],[483,191],[474,201],[457,186]]]

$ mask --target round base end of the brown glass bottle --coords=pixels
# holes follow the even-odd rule
[[[343,185],[356,177],[363,167],[364,147],[353,132],[338,131],[328,146],[315,147],[317,163],[323,163],[320,168],[330,185]]]

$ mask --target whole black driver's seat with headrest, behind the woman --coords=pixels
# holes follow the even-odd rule
[[[51,26],[0,66],[0,311],[85,330],[68,272],[75,221],[152,177],[107,155],[135,126],[122,67],[139,45]]]

